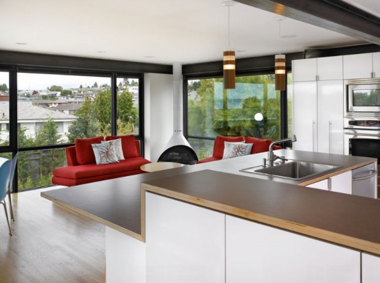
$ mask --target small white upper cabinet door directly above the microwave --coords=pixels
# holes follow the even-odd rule
[[[343,56],[344,79],[362,79],[372,77],[372,53]]]

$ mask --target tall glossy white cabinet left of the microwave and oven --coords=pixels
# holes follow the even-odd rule
[[[344,152],[343,58],[293,61],[294,149]]]

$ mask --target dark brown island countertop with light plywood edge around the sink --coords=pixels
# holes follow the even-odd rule
[[[305,186],[306,184],[317,182],[331,175],[337,175],[338,173],[364,166],[374,162],[375,159],[312,153],[307,151],[291,151],[286,149],[276,151],[276,154],[296,160],[342,164],[343,167],[332,171],[328,175],[323,175],[323,177],[312,177],[302,183],[239,172],[241,169],[261,164],[262,158],[266,157],[266,154],[259,153],[241,158],[121,177],[69,188],[60,188],[58,190],[41,193],[41,196],[75,212],[84,214],[91,219],[104,223],[140,241],[144,241],[145,235],[143,235],[143,231],[141,230],[142,225],[144,225],[143,221],[141,221],[141,183],[143,182],[148,186],[152,186],[154,190],[158,190],[156,193],[161,193],[162,195],[174,193],[178,199],[182,199],[184,196],[186,198],[187,196],[190,200],[182,200],[191,203],[195,203],[192,200],[193,197],[195,197],[202,199],[201,204],[197,203],[198,205],[217,209],[222,212],[226,212],[228,208],[227,213],[247,219],[252,219],[252,214],[257,214],[260,215],[259,219],[252,220],[268,223],[294,232],[308,234],[316,238],[326,239],[333,243],[338,243],[334,241],[334,237],[336,236],[338,236],[338,238],[342,238],[339,236],[348,237],[348,242],[344,242],[342,245],[380,255],[380,249],[377,250],[377,245],[380,245],[380,239],[377,239],[375,236],[376,233],[377,235],[380,234],[380,225],[379,227],[374,227],[376,223],[372,221],[372,230],[370,230],[363,224],[365,219],[368,221],[369,214],[377,215],[376,217],[372,217],[372,219],[379,219],[377,217],[380,216],[380,203],[377,200],[294,186],[296,184]],[[211,170],[204,171],[205,169]],[[197,175],[196,178],[199,177],[199,180],[202,180],[202,186],[199,186],[199,188],[202,189],[196,188],[195,186],[192,188],[191,182],[186,183],[189,184],[186,189],[185,186],[178,186],[178,184],[180,184],[179,182],[173,182],[173,184],[176,185],[169,186],[169,180],[182,180],[182,182],[198,180],[196,178],[194,179],[194,174],[200,174]],[[215,179],[215,174],[223,180],[226,180],[226,176],[228,176],[228,180],[234,180],[233,185],[226,182],[220,183],[219,177]],[[202,176],[202,178],[200,178],[200,176]],[[161,186],[163,188],[161,188]],[[211,189],[215,188],[215,186],[221,188],[219,190]],[[191,190],[194,191],[190,193]],[[233,193],[231,193],[232,190]],[[198,195],[199,193],[201,194]],[[180,195],[180,197],[178,197],[178,195]],[[226,203],[223,197],[230,199],[231,203]],[[244,200],[244,202],[239,202],[239,199]],[[255,199],[261,199],[263,204],[257,206],[259,203],[255,201]],[[292,201],[292,206],[290,205],[290,201]],[[283,205],[278,205],[280,203]],[[214,208],[217,204],[219,204],[220,207]],[[287,206],[285,204],[287,204]],[[298,206],[295,206],[295,204],[298,204]],[[326,204],[329,204],[329,206],[327,206],[329,208],[328,210],[326,210]],[[347,208],[344,208],[345,206]],[[270,207],[276,208],[276,210],[272,212],[265,210]],[[309,212],[310,207],[313,208],[313,212]],[[334,211],[330,210],[334,207]],[[351,215],[353,212],[348,213],[349,207],[355,210],[363,208],[363,210],[368,211]],[[265,209],[261,210],[262,208]],[[235,212],[231,212],[231,209]],[[318,211],[322,213],[323,217],[318,215]],[[336,214],[337,217],[331,217],[331,214]],[[302,218],[302,216],[304,216],[304,218]],[[307,217],[305,218],[305,216]],[[352,218],[353,216],[355,216],[355,218]],[[329,221],[329,219],[335,219],[337,223],[333,225],[333,222]],[[293,224],[289,225],[289,223]],[[349,225],[350,223],[356,223],[356,225]],[[294,226],[299,229],[295,229]],[[305,227],[307,227],[307,229],[305,229]],[[344,227],[346,227],[346,230],[344,230]],[[321,231],[322,234],[320,233]],[[373,233],[371,231],[373,231]],[[326,234],[329,233],[333,236],[326,238]],[[352,238],[361,239],[360,245],[358,246],[356,243],[355,245],[351,244]],[[366,242],[366,246],[369,245],[371,247],[370,250],[366,247],[363,248],[363,241]],[[341,239],[339,243],[342,243]],[[372,247],[373,245],[375,245],[375,248]]]

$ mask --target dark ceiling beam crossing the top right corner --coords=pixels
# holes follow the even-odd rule
[[[341,0],[235,0],[380,45],[380,18]]]

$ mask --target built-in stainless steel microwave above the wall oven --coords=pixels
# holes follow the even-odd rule
[[[380,114],[380,82],[364,84],[348,84],[347,86],[348,113],[373,112]]]

